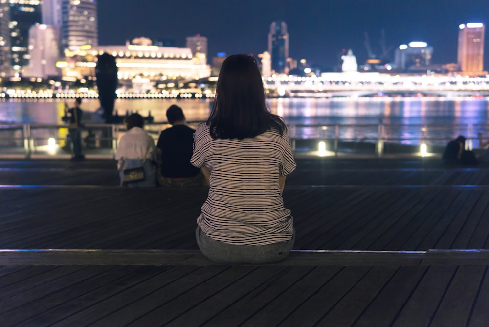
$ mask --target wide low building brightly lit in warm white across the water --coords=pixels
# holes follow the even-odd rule
[[[64,77],[95,76],[97,55],[108,53],[115,57],[118,78],[123,81],[156,82],[175,79],[209,77],[211,70],[192,56],[189,48],[157,47],[126,44],[125,46],[83,46],[66,51],[66,62],[58,62]]]

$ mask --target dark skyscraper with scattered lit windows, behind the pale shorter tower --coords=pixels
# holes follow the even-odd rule
[[[40,0],[9,0],[10,55],[14,72],[29,64],[29,29],[41,23]],[[5,37],[5,34],[2,34]]]

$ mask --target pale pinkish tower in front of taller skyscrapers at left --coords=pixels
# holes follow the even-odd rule
[[[24,76],[48,78],[59,75],[56,62],[59,46],[56,29],[37,24],[29,30],[29,65],[24,66]]]

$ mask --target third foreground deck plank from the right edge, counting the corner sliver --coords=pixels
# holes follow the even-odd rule
[[[455,266],[429,267],[392,326],[429,326],[455,270]]]

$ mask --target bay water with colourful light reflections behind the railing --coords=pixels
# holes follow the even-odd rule
[[[0,122],[61,123],[64,102],[58,99],[3,100],[0,102]],[[72,106],[73,100],[67,102]],[[151,114],[155,122],[165,122],[165,111],[171,104],[182,107],[187,120],[203,121],[209,115],[212,102],[201,99],[118,99],[115,110],[121,116],[136,111],[143,116]],[[477,132],[486,136],[489,132],[489,126],[484,126],[489,125],[487,98],[279,98],[269,99],[268,104],[273,113],[282,116],[291,126],[330,125],[291,128],[293,137],[299,139],[332,138],[335,129],[331,125],[340,125],[341,139],[375,140],[380,123],[385,126],[386,138],[398,139],[404,144],[417,144],[425,136],[445,143],[459,134],[475,137]],[[97,120],[99,106],[96,99],[84,99],[82,108],[87,113],[87,120]],[[428,125],[428,130],[421,125]]]

